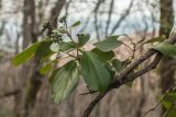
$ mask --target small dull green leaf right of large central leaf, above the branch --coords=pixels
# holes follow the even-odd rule
[[[123,69],[123,62],[118,59],[113,59],[112,67],[116,69],[116,71],[121,71]]]

